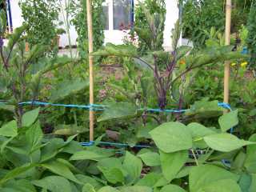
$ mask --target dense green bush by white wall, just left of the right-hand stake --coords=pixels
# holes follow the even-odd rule
[[[189,38],[195,47],[202,47],[208,39],[205,31],[211,27],[223,31],[225,29],[225,11],[223,1],[183,2],[182,24],[184,38]]]

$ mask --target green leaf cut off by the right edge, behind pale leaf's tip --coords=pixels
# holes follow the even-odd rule
[[[256,142],[256,134],[250,136],[249,141]],[[246,149],[246,170],[256,174],[256,145],[247,146]]]

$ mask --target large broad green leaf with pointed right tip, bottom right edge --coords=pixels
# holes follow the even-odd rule
[[[238,181],[238,175],[228,170],[213,165],[194,166],[190,170],[190,192],[198,192],[204,186],[208,186],[213,182],[223,179],[230,179],[234,182]],[[217,190],[218,191],[218,190]]]

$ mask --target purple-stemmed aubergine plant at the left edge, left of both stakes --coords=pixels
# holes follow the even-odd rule
[[[13,34],[6,35],[6,14],[1,10],[0,26],[0,108],[14,112],[18,126],[22,126],[22,106],[25,99],[35,100],[42,88],[41,79],[50,70],[70,62],[70,58],[46,58],[49,47],[36,45],[25,50],[26,26],[18,27]],[[7,42],[7,45],[4,45]]]

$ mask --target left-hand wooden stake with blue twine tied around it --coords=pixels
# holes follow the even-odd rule
[[[88,28],[88,44],[89,54],[94,51],[93,44],[93,23],[91,14],[91,2],[86,0],[87,12],[87,28]],[[94,104],[94,58],[89,55],[89,73],[90,73],[90,104]],[[90,110],[90,141],[94,141],[94,111]]]

